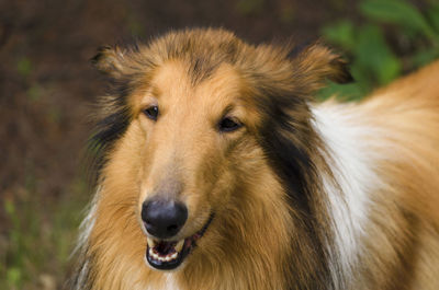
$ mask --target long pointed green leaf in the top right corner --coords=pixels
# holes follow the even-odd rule
[[[360,11],[372,20],[416,30],[430,40],[438,37],[416,7],[405,0],[365,0]]]

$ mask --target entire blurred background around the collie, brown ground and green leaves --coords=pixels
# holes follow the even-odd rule
[[[104,83],[97,48],[222,26],[250,43],[323,39],[359,100],[439,57],[437,0],[0,0],[0,289],[60,289],[92,186],[85,151]]]

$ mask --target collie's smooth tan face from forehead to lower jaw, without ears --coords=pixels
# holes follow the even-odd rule
[[[136,118],[144,136],[138,211],[147,260],[158,269],[184,260],[244,183],[243,173],[262,159],[258,117],[235,68],[222,63],[196,84],[189,70],[179,60],[160,66]]]

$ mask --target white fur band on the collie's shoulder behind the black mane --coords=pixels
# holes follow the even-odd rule
[[[369,219],[370,195],[380,186],[373,170],[378,156],[372,150],[380,135],[351,105],[326,103],[312,109],[337,185],[323,176],[334,218],[336,252],[345,279],[359,255],[359,244]],[[371,183],[370,181],[373,181]],[[337,269],[337,267],[334,267]],[[336,278],[337,274],[334,274]]]

